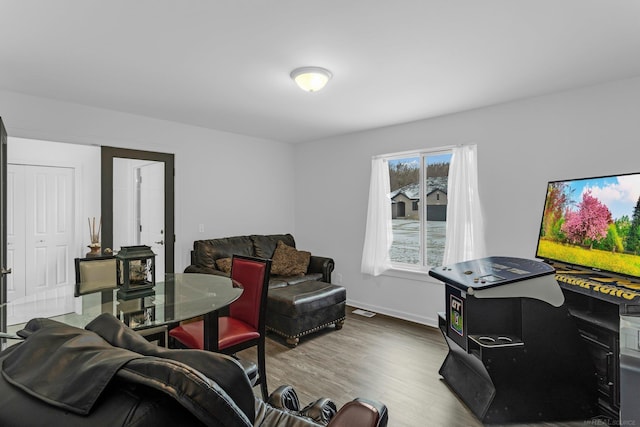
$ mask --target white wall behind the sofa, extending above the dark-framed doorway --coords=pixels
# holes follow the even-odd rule
[[[176,271],[194,240],[293,232],[290,144],[7,91],[0,117],[11,137],[174,153]]]

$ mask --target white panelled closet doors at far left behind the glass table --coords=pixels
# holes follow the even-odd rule
[[[7,299],[23,299],[7,323],[72,312],[72,168],[9,165],[8,255],[12,274]]]

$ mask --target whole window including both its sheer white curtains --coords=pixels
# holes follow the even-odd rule
[[[476,145],[374,156],[362,273],[485,256],[477,163]]]

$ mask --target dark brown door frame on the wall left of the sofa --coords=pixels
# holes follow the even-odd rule
[[[102,247],[113,249],[113,159],[152,160],[164,163],[165,272],[175,269],[174,155],[128,148],[101,147]]]

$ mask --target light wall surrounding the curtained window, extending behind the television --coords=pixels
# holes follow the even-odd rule
[[[360,273],[371,156],[478,145],[490,255],[535,256],[550,180],[640,171],[640,78],[297,145],[296,240],[332,256],[351,304],[436,325],[442,285]]]

